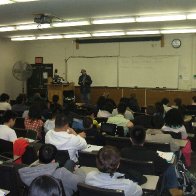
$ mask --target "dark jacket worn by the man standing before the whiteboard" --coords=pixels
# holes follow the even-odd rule
[[[92,84],[91,77],[89,75],[81,75],[78,80],[78,84],[80,85],[81,93],[89,93],[90,86]]]

